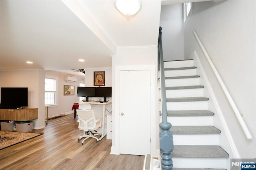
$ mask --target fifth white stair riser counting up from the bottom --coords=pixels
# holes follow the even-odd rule
[[[167,98],[176,97],[202,97],[204,95],[203,88],[181,89],[181,90],[166,90]]]

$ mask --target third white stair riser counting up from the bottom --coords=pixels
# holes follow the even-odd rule
[[[211,126],[212,116],[191,116],[191,117],[167,117],[172,126]]]

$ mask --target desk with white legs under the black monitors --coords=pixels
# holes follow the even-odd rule
[[[106,136],[106,124],[105,124],[105,115],[106,115],[106,106],[108,104],[111,104],[111,102],[106,102],[106,103],[100,103],[100,102],[74,102],[74,104],[79,104],[79,103],[88,103],[88,104],[91,104],[92,106],[92,109],[94,110],[94,113],[96,115],[96,119],[99,118],[99,115],[101,115],[99,112],[99,110],[96,110],[94,109],[95,106],[101,106],[102,107],[102,135],[101,137],[99,138],[99,140],[101,140],[102,138],[104,138],[104,136]],[[76,115],[76,108],[75,109],[75,115]],[[99,112],[98,112],[99,111]],[[98,114],[97,114],[98,112]],[[97,115],[98,115],[98,118],[97,118]]]

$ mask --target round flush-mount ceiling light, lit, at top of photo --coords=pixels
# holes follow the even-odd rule
[[[114,0],[116,9],[124,15],[130,16],[136,14],[142,4],[142,0]]]

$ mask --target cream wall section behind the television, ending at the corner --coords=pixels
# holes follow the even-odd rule
[[[34,128],[44,127],[44,70],[0,71],[0,87],[28,87],[28,108],[38,108]]]

